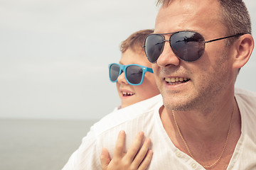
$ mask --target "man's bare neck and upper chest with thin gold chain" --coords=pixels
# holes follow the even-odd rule
[[[241,132],[240,112],[235,100],[221,103],[208,113],[206,111],[174,111],[173,115],[173,112],[167,108],[162,108],[160,111],[161,121],[174,145],[189,155],[181,139],[182,135],[196,161],[202,164],[210,164],[218,159],[223,152],[230,130],[229,135],[232,135],[232,140],[227,141],[220,165],[216,168],[229,163]]]

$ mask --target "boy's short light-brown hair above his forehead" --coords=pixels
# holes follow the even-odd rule
[[[143,45],[147,35],[153,33],[154,30],[139,30],[129,36],[120,45],[120,51],[124,53],[126,50],[131,49],[134,52],[144,52]]]

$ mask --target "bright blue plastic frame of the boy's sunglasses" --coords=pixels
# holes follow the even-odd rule
[[[117,63],[112,63],[112,64],[109,64],[109,77],[110,77],[110,68],[112,67],[113,64],[117,64]],[[125,77],[125,80],[127,81],[128,84],[131,84],[132,86],[139,86],[140,84],[142,84],[142,82],[144,81],[144,75],[146,72],[151,72],[153,73],[153,69],[149,68],[149,67],[145,67],[145,66],[142,66],[142,65],[139,65],[139,64],[127,64],[127,65],[123,65],[123,64],[117,64],[119,66],[119,74],[117,76],[117,79],[118,77],[122,74],[122,72],[124,72],[124,77]],[[142,79],[141,81],[139,82],[139,84],[132,84],[128,79],[127,79],[127,67],[129,66],[137,66],[137,67],[141,67],[142,68]],[[117,79],[112,81],[111,80],[111,77],[110,77],[110,81],[112,81],[113,83],[117,82]]]

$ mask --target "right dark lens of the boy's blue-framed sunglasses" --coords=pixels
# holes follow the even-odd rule
[[[129,66],[126,69],[127,80],[132,84],[139,84],[142,81],[142,68],[139,66]]]

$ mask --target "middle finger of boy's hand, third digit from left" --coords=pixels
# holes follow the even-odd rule
[[[125,157],[127,157],[127,159],[129,159],[131,162],[134,159],[137,152],[139,151],[139,147],[142,145],[143,138],[144,138],[144,132],[138,132],[134,142],[132,142],[131,147],[128,149]]]

